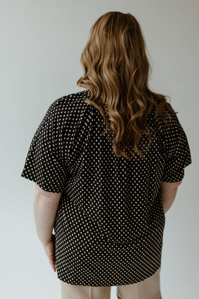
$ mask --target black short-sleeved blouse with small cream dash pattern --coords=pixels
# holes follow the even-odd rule
[[[137,160],[118,159],[112,136],[101,135],[101,113],[84,102],[88,96],[84,90],[50,105],[21,176],[62,193],[54,222],[60,280],[82,286],[138,283],[161,265],[160,184],[183,179],[192,162],[188,141],[176,115],[164,132],[154,106],[147,121],[156,136],[145,159],[136,153]]]

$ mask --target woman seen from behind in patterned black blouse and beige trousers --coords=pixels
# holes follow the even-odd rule
[[[149,89],[138,21],[108,12],[81,55],[86,90],[55,100],[22,177],[35,182],[37,234],[62,299],[160,299],[165,213],[191,164],[166,97]],[[55,235],[52,234],[54,227]]]

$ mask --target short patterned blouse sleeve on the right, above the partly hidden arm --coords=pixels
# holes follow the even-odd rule
[[[169,106],[171,107],[170,104]],[[165,164],[162,181],[172,183],[183,179],[184,168],[191,164],[192,160],[188,140],[178,117],[176,114],[170,115],[170,127],[163,132]]]

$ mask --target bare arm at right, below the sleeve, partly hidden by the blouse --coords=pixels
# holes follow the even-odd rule
[[[178,186],[181,184],[181,182],[182,181],[175,183],[167,183],[163,181],[161,182],[160,194],[164,213],[166,213],[171,208],[177,193]]]

